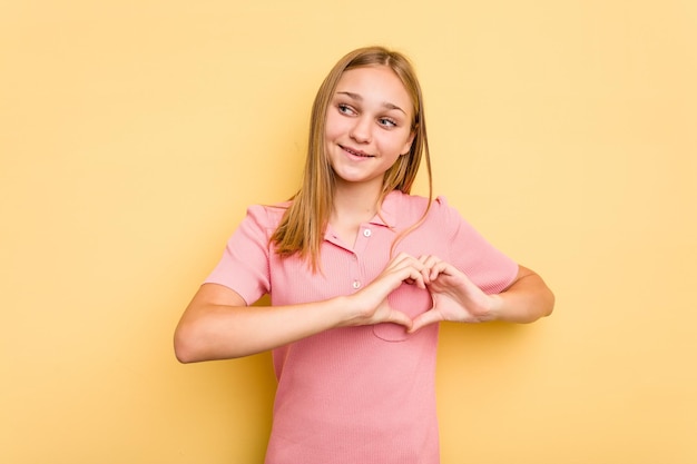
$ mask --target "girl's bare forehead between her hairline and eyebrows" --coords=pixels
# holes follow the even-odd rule
[[[344,71],[336,93],[351,92],[366,101],[395,105],[404,111],[413,107],[409,91],[397,75],[386,66],[367,66]]]

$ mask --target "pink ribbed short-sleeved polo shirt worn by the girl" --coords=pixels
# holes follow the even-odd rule
[[[353,247],[330,227],[322,274],[314,275],[296,257],[281,259],[269,244],[283,206],[253,206],[206,283],[225,285],[248,304],[264,294],[273,305],[353,294],[384,269],[394,237],[419,220],[426,204],[391,192],[381,214],[361,225]],[[490,294],[518,273],[442,197],[399,243],[400,251],[435,255]],[[406,284],[389,300],[412,317],[432,305],[426,290]],[[436,343],[438,325],[406,335],[397,325],[380,324],[331,329],[274,349],[278,388],[266,464],[438,464]]]

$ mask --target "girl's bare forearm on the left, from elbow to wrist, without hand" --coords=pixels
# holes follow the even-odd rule
[[[193,303],[194,305],[195,303]],[[196,305],[175,332],[183,363],[229,359],[277,348],[347,325],[347,298],[291,306]]]

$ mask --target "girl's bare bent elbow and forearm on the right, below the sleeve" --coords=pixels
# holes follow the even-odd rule
[[[493,320],[528,324],[552,313],[554,295],[539,275],[521,267],[516,282],[494,295],[494,302]]]

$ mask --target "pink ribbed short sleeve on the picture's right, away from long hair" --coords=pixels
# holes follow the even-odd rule
[[[443,197],[435,208],[450,230],[450,263],[462,270],[484,293],[497,294],[513,283],[518,263],[489,243]]]

